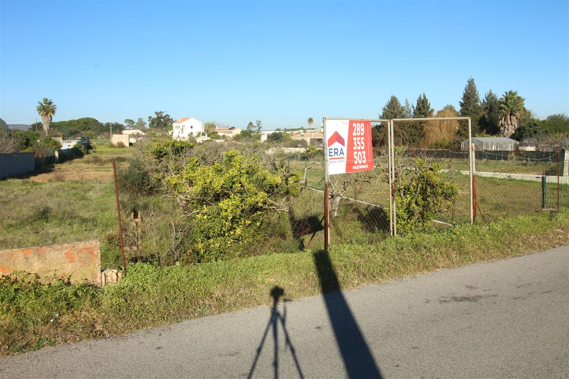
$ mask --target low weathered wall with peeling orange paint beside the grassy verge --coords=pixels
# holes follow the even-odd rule
[[[36,273],[46,281],[71,276],[72,282],[101,284],[99,241],[0,250],[0,274],[14,271]]]

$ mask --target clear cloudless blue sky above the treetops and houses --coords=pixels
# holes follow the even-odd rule
[[[391,94],[457,109],[518,90],[569,114],[569,2],[0,2],[0,117],[245,127],[376,118]]]

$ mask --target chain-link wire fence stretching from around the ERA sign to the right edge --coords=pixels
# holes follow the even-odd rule
[[[387,126],[372,123],[374,169],[329,178],[331,244],[377,243],[389,236],[389,153]],[[395,129],[397,132],[397,129]],[[404,132],[395,145],[403,148],[395,170],[411,172],[417,160],[440,165],[440,177],[453,182],[458,196],[436,214],[433,226],[471,221],[469,152],[411,148]],[[439,141],[438,141],[439,142]],[[449,141],[451,142],[451,141]],[[456,140],[452,141],[456,144]],[[321,145],[288,152],[288,166],[300,173],[302,190],[289,211],[292,237],[299,249],[324,247],[324,161]],[[457,151],[458,150],[458,151]],[[569,156],[563,148],[530,152],[475,150],[473,197],[477,221],[493,222],[512,215],[569,207]],[[559,174],[558,174],[559,173]],[[397,191],[397,183],[394,191]]]

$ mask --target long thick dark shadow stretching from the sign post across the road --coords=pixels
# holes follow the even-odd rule
[[[336,336],[344,366],[350,378],[382,378],[360,327],[341,292],[336,272],[326,251],[314,253],[320,289]]]

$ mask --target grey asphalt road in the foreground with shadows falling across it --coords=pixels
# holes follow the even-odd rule
[[[568,273],[556,248],[2,357],[0,378],[568,378]]]

